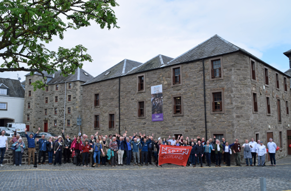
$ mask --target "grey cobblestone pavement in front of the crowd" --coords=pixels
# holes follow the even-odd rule
[[[277,166],[181,167],[33,165],[0,167],[0,191],[259,191],[259,177],[267,191],[291,190],[291,156]],[[214,166],[214,165],[212,165]]]

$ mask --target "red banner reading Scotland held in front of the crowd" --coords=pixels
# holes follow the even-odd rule
[[[186,166],[192,147],[161,145],[159,151],[159,165],[164,163]]]

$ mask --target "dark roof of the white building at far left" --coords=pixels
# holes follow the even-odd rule
[[[8,95],[0,95],[1,97],[24,98],[25,90],[22,88],[19,80],[0,78],[0,88],[7,88]]]

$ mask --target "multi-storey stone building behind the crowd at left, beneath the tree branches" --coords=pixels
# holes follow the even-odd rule
[[[26,75],[23,121],[29,131],[36,132],[36,128],[40,127],[41,132],[60,134],[65,129],[70,135],[78,133],[77,118],[79,115],[82,117],[81,84],[93,76],[80,68],[67,77],[60,73],[45,73],[48,86],[45,90],[36,91],[33,91],[32,83],[43,80],[42,75]]]

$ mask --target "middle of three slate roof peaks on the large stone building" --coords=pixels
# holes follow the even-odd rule
[[[165,64],[172,59],[173,58],[159,54],[158,56],[146,61],[145,63],[139,65],[136,69],[133,69],[126,74],[141,73],[148,70],[158,69],[165,66]]]

